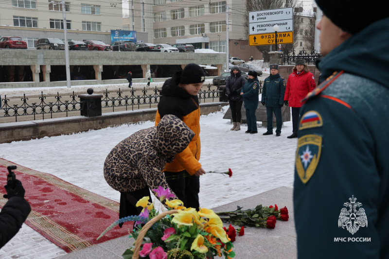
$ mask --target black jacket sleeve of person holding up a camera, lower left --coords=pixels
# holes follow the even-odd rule
[[[30,204],[24,198],[14,196],[8,200],[0,211],[0,248],[18,233],[30,211]]]

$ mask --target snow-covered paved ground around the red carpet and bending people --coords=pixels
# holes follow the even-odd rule
[[[225,107],[227,111],[228,106]],[[233,176],[208,173],[200,177],[200,206],[217,207],[280,186],[293,187],[294,154],[297,138],[288,139],[292,122],[283,125],[281,137],[230,131],[224,112],[202,116],[200,163],[206,171],[227,171]],[[261,125],[258,122],[258,125]],[[153,121],[122,125],[79,134],[0,144],[0,157],[52,173],[74,185],[119,201],[103,176],[106,155],[121,140],[134,132],[154,126]],[[2,259],[51,259],[66,254],[23,224],[17,236],[0,250]]]

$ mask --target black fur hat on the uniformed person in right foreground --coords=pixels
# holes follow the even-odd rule
[[[371,23],[389,17],[388,0],[316,0],[323,15],[345,32],[355,34]]]

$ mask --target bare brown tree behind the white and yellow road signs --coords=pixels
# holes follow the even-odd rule
[[[251,11],[259,11],[259,10],[267,10],[267,9],[277,9],[277,8],[283,8],[283,7],[293,7],[296,8],[300,5],[299,0],[246,0],[246,12],[248,17],[248,12]],[[244,23],[247,34],[249,34],[248,30],[248,20]],[[300,30],[301,22],[300,19],[298,19],[296,12],[293,12],[293,38],[294,42],[296,42],[297,39],[297,32]],[[293,50],[294,44],[283,44],[283,51],[284,52],[290,52]],[[270,56],[268,52],[270,51],[269,45],[263,45],[263,46],[257,46],[256,47],[260,52],[262,52],[264,61],[268,62],[270,59]]]

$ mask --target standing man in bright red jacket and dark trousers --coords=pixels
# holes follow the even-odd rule
[[[297,130],[300,121],[301,100],[315,89],[315,77],[309,72],[305,60],[297,59],[293,72],[289,75],[286,82],[284,95],[284,104],[292,107],[292,125],[293,133],[287,138],[297,138]]]

